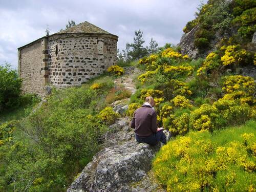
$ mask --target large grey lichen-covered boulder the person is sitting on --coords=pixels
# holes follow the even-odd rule
[[[131,191],[129,183],[141,180],[151,169],[160,144],[150,146],[134,139],[100,151],[71,184],[71,191]]]

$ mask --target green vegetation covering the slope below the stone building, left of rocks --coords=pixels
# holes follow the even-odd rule
[[[102,76],[54,90],[27,118],[0,124],[0,190],[67,190],[118,117],[105,102],[113,86]]]

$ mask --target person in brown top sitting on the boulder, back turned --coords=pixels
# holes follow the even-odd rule
[[[139,143],[150,145],[156,145],[159,141],[166,143],[163,129],[157,127],[157,114],[154,105],[153,97],[146,97],[145,103],[134,112],[131,127],[135,129],[135,138]]]

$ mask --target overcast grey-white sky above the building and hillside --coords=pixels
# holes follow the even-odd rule
[[[205,2],[205,1],[204,1]],[[17,48],[65,29],[69,19],[88,21],[119,36],[118,49],[143,31],[145,45],[153,37],[163,46],[177,44],[185,24],[193,19],[201,0],[0,0],[0,65],[17,68]]]

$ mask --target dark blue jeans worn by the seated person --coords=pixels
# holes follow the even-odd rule
[[[138,143],[147,143],[150,145],[156,145],[159,141],[162,143],[166,143],[166,136],[163,133],[163,130],[158,131],[157,133],[154,133],[148,137],[141,137],[135,134],[135,138],[138,141]]]

